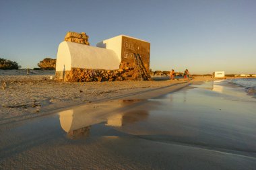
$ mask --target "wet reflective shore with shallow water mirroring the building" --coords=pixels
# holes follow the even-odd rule
[[[225,81],[0,126],[0,169],[253,169],[256,99]]]

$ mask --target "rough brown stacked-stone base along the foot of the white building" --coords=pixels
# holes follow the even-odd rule
[[[92,82],[92,81],[137,81],[139,80],[139,71],[135,68],[127,67],[118,70],[103,69],[79,69],[72,68],[71,71],[57,71],[56,80],[71,82]],[[150,80],[142,75],[143,80]]]

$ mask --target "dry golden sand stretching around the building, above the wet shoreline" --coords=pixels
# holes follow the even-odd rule
[[[55,71],[30,71],[30,75],[26,73],[26,69],[0,71],[0,123],[41,116],[49,111],[96,101],[129,99],[135,95],[138,99],[139,96],[146,97],[146,94],[149,99],[191,82],[212,80],[210,77],[195,77],[193,81],[163,79],[64,83],[50,79],[51,76],[54,78]]]

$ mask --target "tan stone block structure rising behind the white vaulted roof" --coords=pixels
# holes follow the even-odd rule
[[[64,41],[75,42],[79,44],[84,44],[90,46],[88,42],[89,36],[86,35],[85,32],[77,33],[77,32],[67,32]]]

